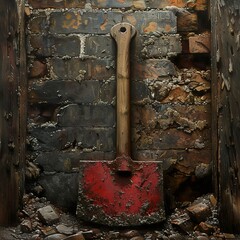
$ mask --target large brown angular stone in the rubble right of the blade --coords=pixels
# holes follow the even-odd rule
[[[211,215],[210,207],[205,203],[194,204],[188,207],[187,211],[190,217],[199,223],[205,221]]]

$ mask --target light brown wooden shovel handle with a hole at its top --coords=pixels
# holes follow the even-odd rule
[[[129,23],[118,23],[111,29],[117,44],[117,156],[131,154],[130,139],[130,42],[136,29]]]

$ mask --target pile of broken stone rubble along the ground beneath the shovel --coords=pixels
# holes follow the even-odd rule
[[[240,239],[222,233],[217,201],[212,194],[179,203],[166,221],[154,226],[109,228],[80,221],[52,205],[45,197],[24,196],[16,227],[0,229],[1,240],[223,240]]]

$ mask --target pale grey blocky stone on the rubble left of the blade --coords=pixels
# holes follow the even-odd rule
[[[59,221],[60,217],[51,205],[40,208],[37,212],[39,219],[45,224],[51,225]]]

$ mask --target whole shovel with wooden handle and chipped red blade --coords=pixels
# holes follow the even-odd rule
[[[138,226],[165,219],[160,161],[135,161],[130,145],[129,50],[135,28],[118,23],[111,29],[117,44],[116,159],[81,161],[79,218],[109,226]]]

